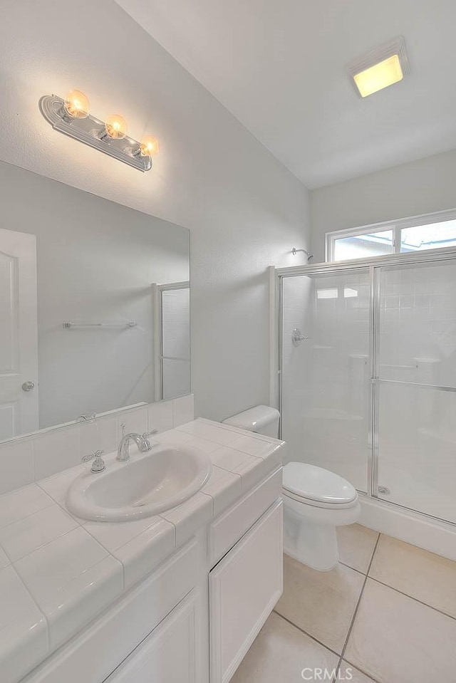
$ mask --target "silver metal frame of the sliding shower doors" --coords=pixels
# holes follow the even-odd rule
[[[456,261],[456,249],[452,246],[445,249],[429,249],[427,251],[414,251],[404,254],[385,254],[383,256],[373,256],[368,259],[350,259],[347,261],[328,261],[321,264],[314,264],[311,266],[285,266],[278,268],[271,266],[271,350],[273,355],[273,363],[271,366],[271,405],[279,403],[279,411],[281,415],[279,425],[279,438],[282,438],[282,410],[283,410],[283,373],[282,373],[282,345],[283,345],[283,281],[284,278],[309,276],[309,275],[328,275],[331,273],[344,273],[346,271],[356,271],[357,269],[368,269],[370,279],[370,296],[371,296],[371,313],[369,316],[369,353],[368,364],[371,384],[369,390],[369,432],[371,432],[371,449],[368,455],[367,463],[367,492],[360,491],[363,496],[368,496],[375,500],[385,502],[386,504],[397,506],[401,509],[409,510],[415,514],[423,515],[427,518],[437,519],[452,526],[455,523],[435,517],[424,512],[417,511],[413,508],[395,503],[394,501],[385,501],[385,499],[378,497],[378,393],[380,384],[385,382],[396,382],[396,380],[382,380],[378,377],[377,360],[378,360],[378,342],[379,342],[379,324],[380,324],[380,268],[382,266],[406,266],[414,264],[433,264],[445,261]],[[273,337],[274,335],[274,337]],[[274,358],[275,357],[275,358]],[[400,382],[403,383],[403,382]],[[441,387],[437,385],[423,385],[420,382],[405,382],[405,384],[413,384],[415,386],[423,386],[428,389],[444,390],[456,392],[456,387]]]

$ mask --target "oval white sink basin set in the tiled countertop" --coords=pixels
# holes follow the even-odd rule
[[[189,446],[154,446],[115,459],[106,469],[78,476],[66,494],[68,510],[78,517],[120,522],[149,517],[183,503],[204,486],[211,473],[207,455]]]

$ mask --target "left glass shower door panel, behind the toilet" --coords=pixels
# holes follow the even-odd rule
[[[299,335],[302,338],[299,338]],[[368,491],[371,273],[318,271],[282,281],[282,436],[289,459]]]

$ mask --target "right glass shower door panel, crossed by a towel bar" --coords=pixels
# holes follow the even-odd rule
[[[456,522],[456,264],[377,270],[374,495]]]

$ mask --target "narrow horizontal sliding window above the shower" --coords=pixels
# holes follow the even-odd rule
[[[327,233],[326,261],[445,247],[456,249],[456,210]]]

